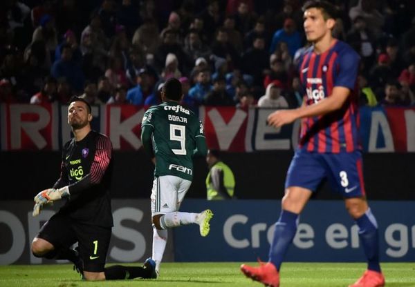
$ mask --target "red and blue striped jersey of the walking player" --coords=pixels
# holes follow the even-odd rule
[[[331,97],[334,87],[350,89],[342,108],[318,117],[302,119],[299,148],[308,152],[351,152],[360,149],[358,139],[358,69],[360,56],[339,40],[316,54],[308,48],[299,61],[299,77],[306,105]]]

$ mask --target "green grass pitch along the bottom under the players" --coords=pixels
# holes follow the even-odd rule
[[[257,263],[252,263],[257,264]],[[131,264],[133,265],[133,264]],[[69,264],[0,266],[2,287],[93,286],[262,286],[239,271],[241,263],[163,263],[158,279],[82,281]],[[386,286],[415,287],[415,263],[384,263]],[[340,287],[352,284],[365,270],[362,263],[284,263],[282,287]]]

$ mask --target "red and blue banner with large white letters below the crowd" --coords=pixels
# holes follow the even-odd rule
[[[147,107],[93,106],[94,130],[109,136],[114,150],[138,150],[141,120]],[[272,109],[201,107],[209,148],[230,152],[293,150],[299,125],[275,129],[266,124]],[[0,150],[59,150],[71,131],[66,106],[0,105]],[[365,152],[415,152],[415,108],[360,108],[360,135]]]

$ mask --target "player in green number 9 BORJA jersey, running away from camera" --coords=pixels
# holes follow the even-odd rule
[[[167,243],[167,228],[199,224],[202,236],[209,233],[211,210],[178,212],[192,184],[194,155],[205,157],[208,150],[203,125],[191,110],[181,106],[178,79],[168,79],[161,90],[163,103],[152,106],[142,118],[141,141],[156,168],[151,190],[153,253],[156,273]]]

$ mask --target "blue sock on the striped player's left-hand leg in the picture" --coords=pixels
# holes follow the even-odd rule
[[[290,246],[295,236],[295,232],[297,232],[297,219],[298,215],[296,213],[282,210],[281,215],[279,215],[279,219],[275,224],[275,232],[273,243],[270,247],[269,261],[275,265],[277,270],[279,270],[282,260],[284,259],[284,255],[288,250],[288,246]]]

